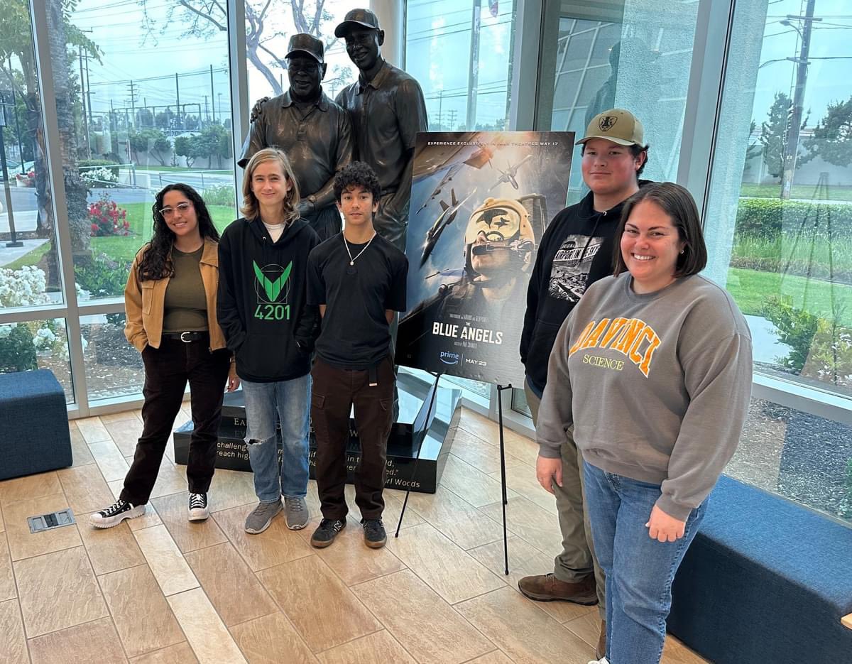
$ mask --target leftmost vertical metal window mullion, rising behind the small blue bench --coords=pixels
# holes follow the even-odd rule
[[[54,211],[55,238],[59,246],[53,247],[60,264],[62,293],[66,301],[66,334],[68,356],[71,363],[71,380],[74,401],[81,417],[89,414],[89,393],[86,390],[86,369],[83,362],[83,341],[80,335],[80,319],[77,304],[77,289],[74,282],[74,259],[72,256],[71,230],[68,208],[65,205],[66,191],[63,177],[62,152],[60,147],[59,120],[56,116],[56,93],[54,89],[53,65],[50,60],[47,4],[30,0],[32,37],[36,51],[38,94],[41,98],[42,123],[44,127],[44,149],[48,160],[48,182],[51,204]]]

